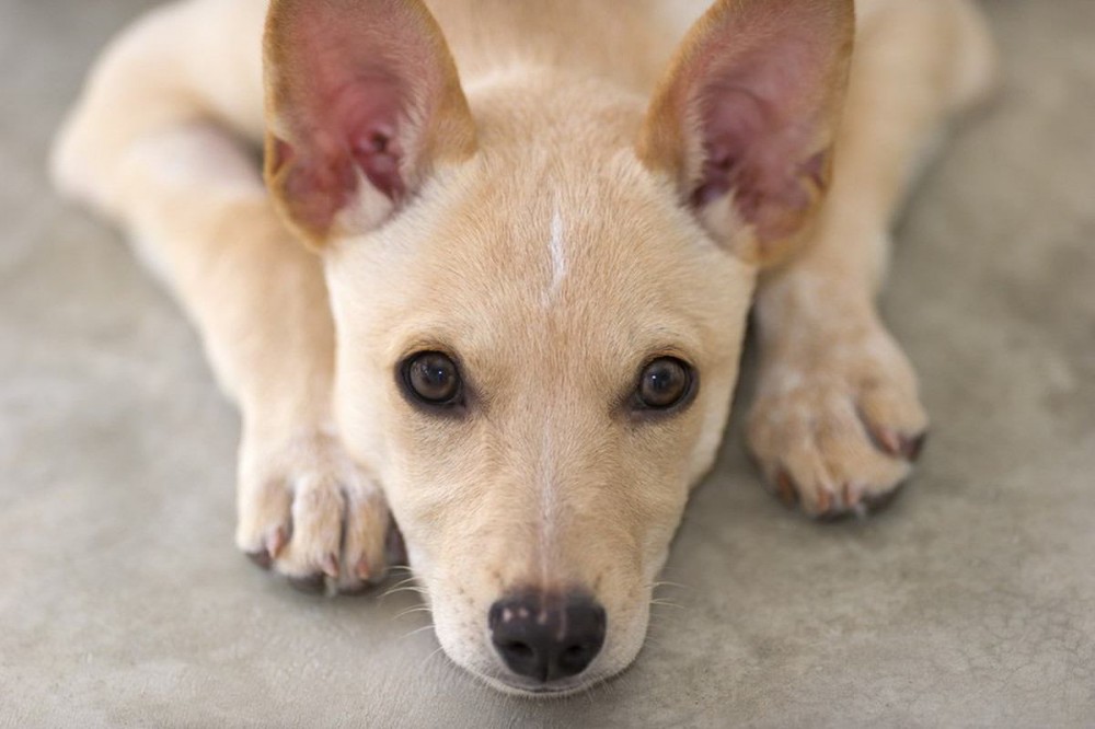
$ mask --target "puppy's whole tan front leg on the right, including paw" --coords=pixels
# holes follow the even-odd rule
[[[867,8],[867,3],[864,3]],[[863,512],[909,475],[927,417],[875,309],[888,227],[925,142],[983,93],[992,53],[971,5],[875,3],[862,20],[833,186],[810,246],[762,281],[749,444],[812,516]]]

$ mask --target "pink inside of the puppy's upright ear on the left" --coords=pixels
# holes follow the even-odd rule
[[[295,216],[326,231],[364,177],[399,205],[413,140],[411,106],[431,78],[427,28],[401,2],[284,2],[267,39],[286,136],[272,161]],[[276,42],[272,42],[272,39]]]

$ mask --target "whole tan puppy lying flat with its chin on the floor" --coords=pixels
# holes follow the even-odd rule
[[[828,518],[907,478],[889,221],[994,76],[971,0],[183,0],[53,175],[240,407],[238,546],[354,592],[401,533],[448,656],[562,695],[643,645],[750,312],[771,489]]]

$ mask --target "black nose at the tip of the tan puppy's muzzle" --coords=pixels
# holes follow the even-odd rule
[[[522,593],[494,603],[488,623],[506,666],[541,682],[581,673],[604,644],[604,609],[585,595]]]

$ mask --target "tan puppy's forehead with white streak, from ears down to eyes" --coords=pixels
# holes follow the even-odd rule
[[[437,344],[471,358],[611,366],[659,348],[698,356],[733,332],[752,269],[633,158],[544,167],[476,170],[384,235],[345,246],[335,269],[356,282],[336,297],[371,299],[358,315],[374,321],[390,357]]]

